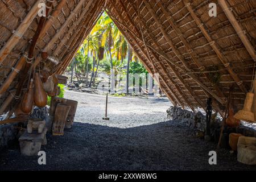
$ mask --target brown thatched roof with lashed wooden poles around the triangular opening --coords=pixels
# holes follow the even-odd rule
[[[24,72],[19,72],[17,65],[29,54],[31,39],[40,25],[40,2],[0,1],[2,105],[17,82],[24,81]],[[208,15],[211,2],[217,4],[217,17]],[[207,98],[212,97],[214,108],[221,110],[233,86],[234,105],[240,109],[251,88],[256,43],[254,0],[59,0],[47,5],[52,8],[36,42],[32,67],[40,63],[51,73],[63,73],[106,10],[148,72],[159,73],[160,86],[174,104],[205,107]],[[42,52],[57,57],[59,64],[42,59]],[[27,62],[29,68],[30,59]],[[18,76],[6,86],[7,77],[14,72],[19,72]]]

